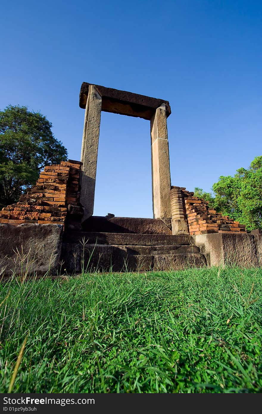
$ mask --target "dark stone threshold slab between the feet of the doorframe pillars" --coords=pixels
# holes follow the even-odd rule
[[[134,217],[91,216],[82,223],[83,231],[104,233],[172,234],[171,229],[161,219]]]

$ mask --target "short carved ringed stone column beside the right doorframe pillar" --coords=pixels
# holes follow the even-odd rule
[[[172,234],[189,234],[185,212],[185,197],[180,187],[170,190]]]

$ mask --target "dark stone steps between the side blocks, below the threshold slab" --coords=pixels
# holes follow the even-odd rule
[[[65,232],[61,259],[70,274],[82,270],[183,270],[207,265],[191,236],[142,233]]]

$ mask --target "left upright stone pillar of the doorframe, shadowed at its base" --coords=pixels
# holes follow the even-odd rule
[[[82,221],[94,212],[96,163],[98,153],[102,98],[93,85],[89,86],[84,116],[84,132],[81,150],[82,173],[80,177],[80,203],[84,207]]]

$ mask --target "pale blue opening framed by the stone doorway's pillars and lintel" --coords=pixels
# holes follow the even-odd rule
[[[148,120],[102,112],[94,215],[152,218]]]

